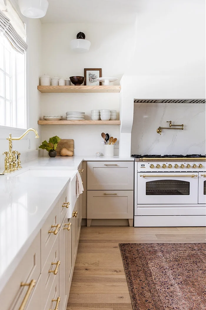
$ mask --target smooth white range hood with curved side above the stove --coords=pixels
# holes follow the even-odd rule
[[[124,145],[120,139],[120,154],[127,156],[134,98],[205,98],[204,0],[140,1],[136,38],[121,82]]]

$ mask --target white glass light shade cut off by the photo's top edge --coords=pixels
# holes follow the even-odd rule
[[[41,18],[48,9],[47,0],[19,0],[21,13],[29,18]]]

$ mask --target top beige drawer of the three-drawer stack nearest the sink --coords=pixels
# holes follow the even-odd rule
[[[44,268],[47,257],[59,232],[59,203],[54,207],[41,229],[41,266]],[[56,226],[56,227],[52,227]],[[54,233],[55,232],[55,233]]]

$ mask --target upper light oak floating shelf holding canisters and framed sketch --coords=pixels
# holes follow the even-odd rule
[[[37,86],[41,93],[119,93],[120,85],[113,86]]]

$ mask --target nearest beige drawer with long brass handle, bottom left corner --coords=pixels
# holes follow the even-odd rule
[[[40,277],[40,232],[36,236],[32,245],[24,255],[23,259],[15,269],[10,280],[0,295],[0,308],[3,310],[19,310],[23,300],[25,300],[27,291],[31,288],[25,309],[32,299],[32,294],[36,288],[37,280]],[[35,280],[35,286],[32,285]],[[31,284],[31,286],[21,286],[21,283]],[[33,288],[32,288],[33,287]]]

